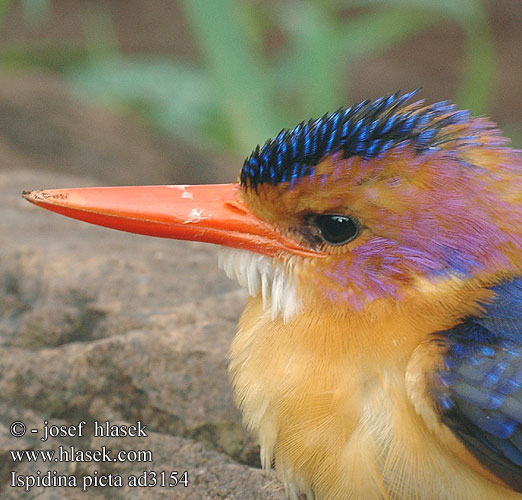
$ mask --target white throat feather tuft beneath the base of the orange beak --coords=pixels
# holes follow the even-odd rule
[[[286,323],[302,310],[291,261],[285,264],[248,250],[223,248],[218,262],[226,275],[237,280],[249,295],[256,297],[261,293],[263,309],[270,309],[272,319],[281,315]]]

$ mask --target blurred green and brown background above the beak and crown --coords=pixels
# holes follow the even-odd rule
[[[422,87],[522,146],[520,0],[0,0],[0,168],[233,180],[281,128]]]

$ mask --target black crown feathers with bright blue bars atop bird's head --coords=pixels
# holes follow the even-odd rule
[[[445,141],[439,132],[444,127],[469,121],[468,111],[456,111],[447,101],[422,107],[407,101],[417,90],[398,92],[350,108],[341,108],[319,119],[301,122],[293,130],[282,130],[257,146],[245,160],[241,185],[254,187],[269,183],[294,183],[312,175],[314,167],[326,156],[342,151],[344,158],[376,157],[406,141],[418,152],[436,147]]]

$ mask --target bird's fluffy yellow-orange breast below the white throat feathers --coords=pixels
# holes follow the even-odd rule
[[[346,323],[317,310],[285,324],[249,299],[230,374],[263,466],[275,465],[292,500],[522,498],[466,465],[416,412],[405,375],[424,337],[411,328],[397,314]]]

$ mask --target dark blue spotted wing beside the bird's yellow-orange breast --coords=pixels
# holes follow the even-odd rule
[[[437,332],[449,348],[433,396],[471,453],[522,492],[522,278],[492,290],[482,315]]]

